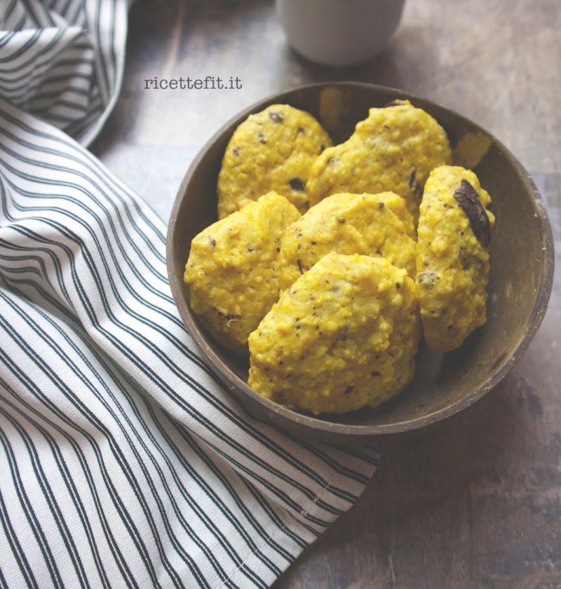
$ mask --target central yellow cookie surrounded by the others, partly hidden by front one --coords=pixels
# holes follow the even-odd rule
[[[414,279],[416,243],[407,235],[400,215],[403,198],[380,194],[333,194],[313,206],[286,230],[280,246],[280,287],[287,288],[319,259],[334,251],[384,257],[405,268]]]

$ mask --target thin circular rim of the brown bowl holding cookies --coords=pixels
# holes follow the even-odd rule
[[[532,308],[532,312],[530,313],[525,332],[522,334],[522,337],[518,341],[518,344],[516,345],[513,354],[508,358],[503,358],[501,363],[497,366],[495,372],[492,374],[492,377],[487,379],[485,383],[476,388],[471,394],[466,395],[464,398],[457,400],[456,402],[452,403],[452,405],[448,405],[447,407],[438,409],[423,417],[408,419],[407,421],[399,421],[393,424],[338,424],[332,421],[325,421],[324,419],[319,419],[318,417],[312,417],[307,414],[299,413],[293,409],[290,409],[289,407],[279,405],[278,403],[264,397],[263,395],[259,395],[259,393],[254,391],[243,379],[241,379],[241,377],[238,377],[238,375],[233,370],[231,370],[231,368],[226,363],[224,363],[224,361],[221,358],[219,358],[219,356],[217,356],[215,351],[212,349],[211,346],[207,344],[205,339],[203,339],[199,331],[199,327],[196,324],[193,316],[191,315],[192,312],[189,309],[189,304],[183,296],[182,276],[176,276],[173,268],[173,237],[177,227],[177,214],[182,206],[182,201],[186,194],[187,184],[189,184],[189,180],[191,179],[194,170],[198,168],[198,165],[201,163],[201,160],[205,156],[205,153],[212,146],[212,144],[219,140],[219,138],[222,137],[225,131],[227,131],[231,126],[233,126],[236,123],[241,123],[241,121],[245,120],[250,114],[264,109],[266,105],[271,104],[271,102],[279,102],[281,100],[285,100],[286,96],[302,90],[320,90],[321,88],[332,87],[363,88],[366,90],[382,91],[384,93],[390,92],[394,93],[397,98],[412,100],[412,102],[417,101],[425,102],[426,104],[432,104],[438,109],[446,111],[447,114],[451,114],[452,116],[459,118],[461,121],[469,123],[470,126],[480,131],[481,133],[487,135],[492,140],[492,142],[497,144],[501,151],[503,151],[503,154],[508,158],[510,163],[518,170],[520,176],[527,183],[527,191],[532,196],[532,200],[534,201],[534,214],[538,220],[539,230],[541,233],[541,247],[544,252],[543,280],[541,282],[541,285],[539,286],[539,292],[536,295],[536,302],[534,303],[534,307]],[[173,208],[170,214],[170,220],[168,222],[165,257],[170,289],[175,300],[175,304],[177,305],[177,309],[180,312],[180,316],[182,317],[182,320],[187,327],[189,335],[194,339],[196,345],[203,354],[203,357],[209,363],[209,367],[212,374],[214,374],[215,377],[217,377],[217,379],[222,382],[222,384],[227,386],[227,388],[229,388],[230,391],[236,392],[237,390],[238,392],[243,393],[243,395],[249,396],[254,402],[257,402],[259,405],[262,405],[262,408],[265,409],[266,412],[268,412],[269,414],[273,412],[273,414],[278,414],[280,417],[288,419],[288,421],[292,421],[302,426],[306,426],[306,428],[309,428],[311,430],[322,432],[327,431],[334,434],[343,434],[349,436],[370,436],[388,433],[401,433],[405,431],[422,428],[424,426],[434,424],[438,421],[442,421],[442,419],[446,419],[447,417],[457,414],[460,411],[472,405],[476,400],[482,398],[494,386],[499,384],[499,382],[504,377],[506,377],[506,374],[508,374],[508,372],[510,372],[513,369],[513,367],[518,363],[520,358],[522,358],[525,351],[527,350],[530,342],[532,341],[532,339],[534,339],[534,336],[543,321],[543,317],[546,314],[551,290],[553,287],[553,271],[555,267],[553,232],[551,230],[550,221],[546,205],[543,202],[543,198],[541,198],[541,194],[539,193],[536,184],[532,180],[532,177],[530,177],[529,172],[525,170],[520,161],[518,161],[518,158],[516,158],[514,154],[500,140],[498,140],[488,130],[478,125],[478,123],[471,121],[471,119],[468,119],[466,116],[458,113],[457,111],[454,111],[452,109],[442,106],[441,104],[438,104],[438,102],[434,102],[433,100],[429,100],[427,98],[419,97],[412,93],[406,92],[405,90],[391,88],[390,86],[381,86],[379,84],[353,81],[318,82],[281,90],[279,92],[268,95],[262,98],[261,100],[257,100],[257,102],[250,104],[250,106],[238,112],[238,114],[235,114],[230,119],[228,119],[223,125],[221,125],[219,129],[210,137],[210,139],[208,139],[205,142],[205,144],[203,144],[201,149],[198,150],[198,153],[194,157],[193,161],[191,161],[189,168],[187,168],[187,171],[185,172],[182,182],[180,184],[180,187],[177,190],[175,201],[173,203]],[[222,373],[215,369],[216,365],[220,367]],[[249,407],[246,408],[250,410]]]

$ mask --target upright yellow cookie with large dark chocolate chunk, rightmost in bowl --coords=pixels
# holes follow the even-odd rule
[[[486,320],[491,198],[471,170],[444,165],[426,182],[417,244],[417,295],[430,348],[453,350]]]

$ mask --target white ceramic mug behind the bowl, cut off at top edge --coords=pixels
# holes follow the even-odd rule
[[[405,0],[276,0],[290,44],[323,65],[374,57],[397,29]]]

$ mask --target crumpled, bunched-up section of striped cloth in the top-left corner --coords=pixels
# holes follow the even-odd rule
[[[0,96],[83,144],[119,95],[126,0],[0,0]]]

